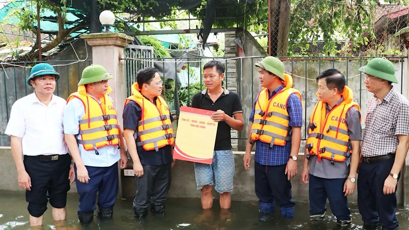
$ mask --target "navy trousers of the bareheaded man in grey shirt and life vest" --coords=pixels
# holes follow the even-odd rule
[[[326,179],[309,175],[310,215],[320,215],[327,211],[327,198],[332,214],[338,220],[351,220],[348,199],[343,192],[346,178]]]

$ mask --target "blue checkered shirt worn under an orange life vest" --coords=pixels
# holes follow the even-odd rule
[[[269,95],[269,99],[278,93],[281,89],[284,88],[284,84],[274,90],[271,95]],[[257,103],[258,98],[254,102],[252,113],[250,114],[249,121],[254,121],[254,113],[255,113],[255,105]],[[290,127],[301,127],[303,125],[303,105],[301,103],[300,98],[295,95],[291,94],[287,100],[287,112],[288,117],[290,117],[290,121],[288,126]],[[291,132],[288,132],[288,135]],[[270,144],[261,142],[259,140],[256,141],[256,154],[254,157],[255,162],[259,163],[260,165],[268,165],[268,166],[277,166],[277,165],[284,165],[287,164],[289,156],[291,152],[291,141],[286,141],[284,146],[274,145],[270,148]]]

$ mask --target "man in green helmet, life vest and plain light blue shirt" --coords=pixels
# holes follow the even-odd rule
[[[111,78],[101,65],[86,67],[64,111],[65,141],[75,160],[82,224],[93,221],[97,193],[97,216],[112,218],[118,194],[117,162],[120,160],[121,169],[127,163],[117,111],[108,96]]]

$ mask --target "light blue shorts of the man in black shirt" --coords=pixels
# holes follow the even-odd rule
[[[213,172],[216,180],[215,190],[218,193],[233,190],[234,157],[232,150],[214,151],[211,165],[195,163],[194,166],[198,190],[205,185],[213,186]]]

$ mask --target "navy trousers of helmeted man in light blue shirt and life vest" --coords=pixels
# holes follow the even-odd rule
[[[88,183],[82,183],[75,178],[77,191],[80,195],[78,212],[89,213],[96,210],[98,193],[98,207],[101,209],[112,208],[118,194],[118,164],[109,167],[85,166],[88,170]],[[77,174],[77,167],[75,167]]]

